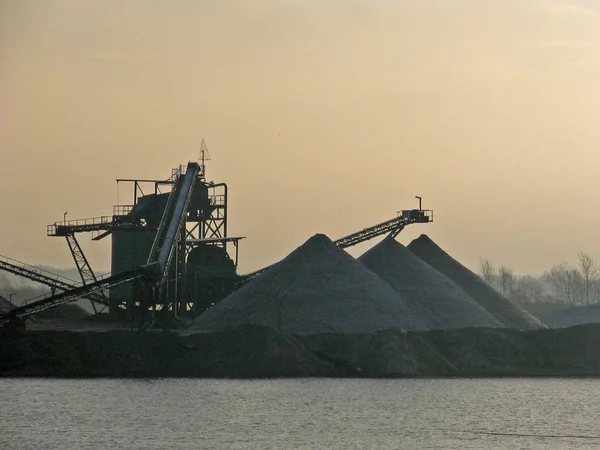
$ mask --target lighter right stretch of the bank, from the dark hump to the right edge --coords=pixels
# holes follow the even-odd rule
[[[600,325],[312,335],[307,345],[364,376],[600,376]]]

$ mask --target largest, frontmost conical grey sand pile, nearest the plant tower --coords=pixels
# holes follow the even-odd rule
[[[322,234],[199,316],[191,329],[249,323],[307,334],[426,329],[400,294]]]

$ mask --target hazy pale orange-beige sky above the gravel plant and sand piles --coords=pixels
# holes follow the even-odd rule
[[[416,195],[434,223],[398,240],[471,269],[600,261],[599,80],[595,0],[0,0],[0,254],[72,267],[47,224],[204,138],[241,273]]]

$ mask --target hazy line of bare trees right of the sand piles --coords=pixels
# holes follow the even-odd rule
[[[485,258],[480,259],[479,270],[487,284],[517,303],[569,306],[600,303],[600,269],[585,252],[577,254],[574,264],[556,264],[537,277],[515,275],[509,267],[496,267]]]

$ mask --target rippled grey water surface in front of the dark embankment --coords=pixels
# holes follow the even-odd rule
[[[0,448],[600,448],[599,399],[595,379],[0,379]]]

